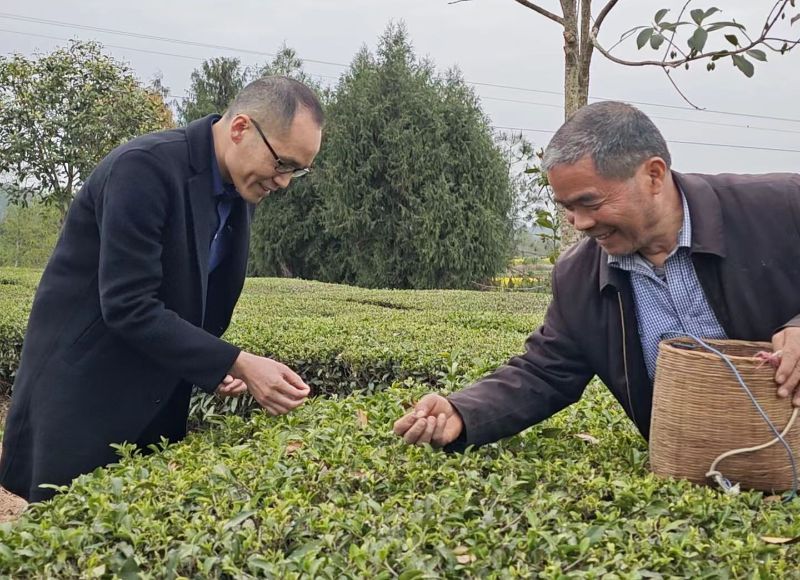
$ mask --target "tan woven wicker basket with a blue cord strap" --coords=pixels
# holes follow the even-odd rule
[[[753,358],[758,351],[771,352],[772,345],[706,342],[729,358],[764,412],[782,431],[792,414],[791,401],[777,397],[775,369]],[[691,338],[664,340],[658,350],[650,423],[653,473],[709,483],[706,473],[719,455],[774,439],[733,371],[719,356]],[[793,425],[785,439],[800,461],[800,426]],[[717,470],[745,489],[777,492],[792,487],[791,464],[780,443],[724,459]]]

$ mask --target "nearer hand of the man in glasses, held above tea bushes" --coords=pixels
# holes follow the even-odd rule
[[[229,374],[241,379],[271,415],[285,415],[303,404],[311,389],[285,364],[242,351]]]

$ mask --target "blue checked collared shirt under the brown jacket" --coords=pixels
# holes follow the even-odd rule
[[[667,257],[663,269],[654,268],[638,253],[608,257],[610,266],[630,272],[639,339],[651,381],[655,377],[658,343],[663,335],[678,332],[700,338],[727,338],[694,271],[689,255],[692,244],[689,206],[683,195],[681,199],[683,226],[678,234],[678,246]]]

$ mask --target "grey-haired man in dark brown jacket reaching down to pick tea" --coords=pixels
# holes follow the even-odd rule
[[[778,396],[800,406],[800,175],[670,169],[641,111],[588,105],[554,135],[544,168],[585,238],[562,255],[526,352],[394,425],[407,443],[463,449],[519,433],[576,402],[597,375],[642,435],[660,338],[772,341]]]

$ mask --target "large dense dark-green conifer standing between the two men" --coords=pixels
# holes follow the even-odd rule
[[[254,274],[457,288],[503,269],[508,164],[457,72],[436,75],[392,26],[375,55],[355,57],[326,112],[314,174],[259,208]]]

